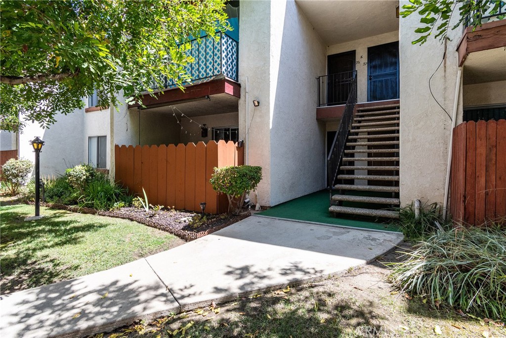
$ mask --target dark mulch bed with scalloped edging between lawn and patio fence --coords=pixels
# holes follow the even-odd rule
[[[33,205],[34,202],[28,202],[28,204]],[[40,205],[83,214],[130,219],[145,224],[148,227],[174,234],[187,242],[226,228],[250,215],[249,212],[241,215],[234,215],[231,213],[220,215],[205,214],[205,219],[201,219],[200,213],[186,210],[160,210],[157,213],[153,210],[149,210],[149,212],[146,213],[144,209],[134,207],[106,211],[58,203],[41,202]]]

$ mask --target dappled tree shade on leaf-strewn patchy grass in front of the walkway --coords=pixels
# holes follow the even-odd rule
[[[331,295],[323,293],[304,298],[297,293],[287,293],[240,298],[232,305],[222,307],[218,314],[205,308],[201,309],[203,314],[194,311],[148,323],[136,322],[113,333],[130,331],[128,337],[155,338],[160,332],[163,336],[163,332],[174,332],[189,325],[186,335],[192,337],[337,338],[362,336],[363,332],[370,332],[367,336],[375,337],[385,330],[378,325],[379,318],[367,306],[357,306],[353,301],[327,306],[327,296]]]

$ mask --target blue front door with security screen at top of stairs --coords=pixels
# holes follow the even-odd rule
[[[399,42],[367,49],[367,101],[399,98]]]

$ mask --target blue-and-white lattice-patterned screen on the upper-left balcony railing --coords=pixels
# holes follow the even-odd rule
[[[214,37],[205,35],[200,37],[200,43],[197,39],[191,40],[191,49],[187,52],[193,56],[195,61],[186,67],[187,73],[191,76],[191,82],[185,82],[183,85],[190,83],[195,84],[210,80],[220,74],[238,82],[238,42],[223,32],[218,32],[218,40]],[[163,77],[162,83],[165,88],[177,87],[174,80],[168,80]],[[160,89],[154,80],[151,83],[153,90]]]

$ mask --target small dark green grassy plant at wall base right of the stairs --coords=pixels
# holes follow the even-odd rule
[[[401,229],[407,239],[421,239],[441,230],[436,222],[443,230],[452,228],[451,222],[443,220],[441,208],[437,203],[420,206],[418,218],[415,215],[413,203],[411,203],[411,205],[399,209],[399,219],[394,221],[394,225]]]

